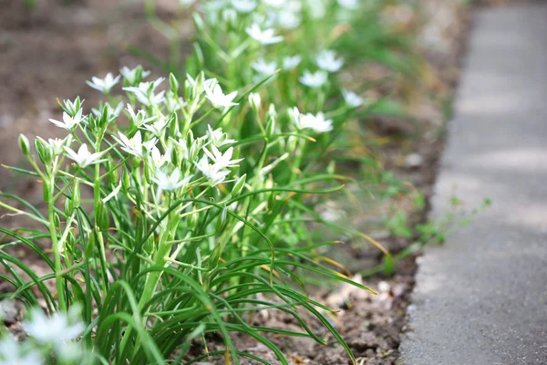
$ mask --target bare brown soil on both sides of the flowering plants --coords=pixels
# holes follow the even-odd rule
[[[160,12],[167,16],[174,13],[172,6],[177,2],[166,0],[164,3],[160,4]],[[57,135],[59,130],[48,121],[60,117],[57,98],[73,99],[80,95],[86,99],[84,105],[90,108],[97,104],[100,94],[88,88],[85,80],[116,72],[122,66],[144,64],[153,69],[141,58],[129,55],[127,44],[167,58],[167,42],[147,22],[139,0],[39,0],[32,9],[26,9],[22,1],[0,0],[0,8],[0,162],[6,165],[22,163],[17,147],[19,133],[25,133],[29,139],[36,135],[43,138]],[[458,79],[459,55],[465,34],[461,25],[465,23],[465,18],[458,19],[459,28],[450,37],[452,43],[448,52],[428,52],[430,71],[437,83],[434,92],[446,97]],[[372,120],[371,125],[378,138],[387,138],[388,142],[376,151],[386,169],[411,182],[428,198],[443,146],[442,131],[447,116],[441,110],[445,100],[431,99],[427,92],[425,94],[412,110],[418,123],[383,118]],[[418,156],[419,163],[408,164],[409,155]],[[5,169],[0,170],[0,190],[24,196],[30,203],[41,200],[39,183]],[[422,222],[427,216],[427,205],[424,210],[414,210],[409,214],[412,222]],[[20,221],[4,216],[0,224],[13,228]],[[385,233],[380,235],[384,235],[382,244],[394,252],[412,241]],[[38,275],[46,274],[45,267],[32,262],[32,255],[26,252],[16,255],[26,260]],[[354,251],[352,255],[353,266],[361,271],[381,263],[381,255],[373,251]],[[393,276],[366,277],[366,286],[377,290],[377,296],[347,286],[313,294],[313,297],[326,300],[332,308],[340,310],[328,318],[346,339],[357,363],[397,363],[408,297],[414,286],[414,260],[415,257],[410,256],[400,263]],[[359,276],[354,279],[358,280]],[[257,325],[300,330],[292,318],[277,311],[261,312],[254,321]],[[5,325],[16,328],[19,322],[14,319]],[[321,332],[324,328],[313,321],[312,328],[333,345],[325,347],[309,339],[270,338],[294,364],[349,363],[344,349],[336,347],[333,339]],[[237,348],[277,363],[269,350],[257,346],[252,340],[236,335],[234,341]],[[208,339],[210,350],[222,349],[220,344],[221,341],[214,337]],[[196,351],[200,349],[202,344],[196,343]],[[212,363],[216,360],[206,361]],[[244,363],[255,362],[243,360]]]

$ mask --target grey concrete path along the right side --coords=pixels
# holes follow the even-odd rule
[[[405,365],[547,364],[547,4],[480,10],[433,216],[491,207],[419,261]]]

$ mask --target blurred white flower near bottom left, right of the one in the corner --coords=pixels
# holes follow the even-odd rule
[[[82,146],[85,146],[83,144]],[[73,313],[68,316],[73,317]],[[56,313],[51,317],[46,317],[46,314],[41,309],[36,309],[33,312],[32,320],[26,322],[23,328],[28,336],[36,339],[42,344],[56,345],[62,347],[67,341],[76,339],[85,329],[84,324],[76,322],[70,325],[68,316],[62,313]]]

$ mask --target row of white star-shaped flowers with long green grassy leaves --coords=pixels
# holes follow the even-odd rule
[[[50,120],[66,130],[65,138],[38,137],[34,150],[25,136],[19,139],[33,168],[27,173],[43,183],[47,215],[0,205],[42,224],[36,237],[51,241],[49,259],[17,238],[54,271],[32,283],[57,315],[36,312],[25,329],[59,359],[70,358],[67,345],[81,336],[78,343],[102,363],[181,360],[192,339],[211,330],[233,358],[233,330],[274,346],[260,329],[240,326],[242,309],[280,308],[280,301],[310,308],[304,292],[287,290],[285,277],[303,282],[300,270],[310,270],[350,282],[315,259],[315,251],[296,246],[313,241],[307,222],[327,224],[309,196],[343,188],[334,162],[324,162],[337,132],[365,104],[340,87],[347,59],[325,26],[359,5],[206,0],[196,6],[196,57],[186,61],[188,69],[203,71],[153,79],[137,67],[93,77],[88,86],[105,101],[88,109],[79,98],[64,100]],[[52,278],[55,295],[44,284]],[[19,290],[38,303],[27,288]],[[66,315],[75,303],[85,325]],[[229,317],[236,320],[227,325]],[[327,329],[344,345],[335,328]],[[16,347],[0,352],[6,361],[41,361]]]

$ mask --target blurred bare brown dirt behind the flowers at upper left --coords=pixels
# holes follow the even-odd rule
[[[17,165],[17,136],[56,136],[60,130],[56,99],[86,99],[96,105],[100,94],[85,81],[118,73],[121,66],[143,63],[125,47],[138,45],[163,57],[164,38],[146,21],[142,1],[38,0],[26,9],[21,0],[0,0],[0,162]],[[169,8],[166,8],[169,11]],[[144,63],[146,64],[146,62]],[[35,183],[0,172],[2,191],[40,194]],[[2,224],[5,224],[3,222]]]

